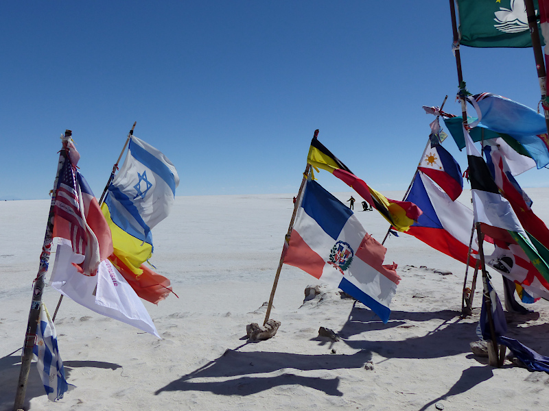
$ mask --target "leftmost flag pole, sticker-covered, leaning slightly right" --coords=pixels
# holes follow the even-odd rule
[[[27,390],[27,380],[29,378],[30,365],[32,362],[32,349],[34,348],[34,340],[36,340],[36,327],[40,317],[40,306],[42,304],[42,294],[45,286],[45,276],[49,266],[49,256],[51,253],[51,240],[54,232],[54,208],[56,203],[56,190],[59,173],[67,157],[67,145],[71,138],[71,130],[65,130],[65,136],[62,136],[63,147],[59,152],[59,161],[57,164],[57,174],[54,182],[54,190],[51,193],[51,202],[49,204],[49,214],[46,225],[46,234],[40,253],[40,265],[38,266],[38,274],[34,279],[32,288],[32,301],[29,312],[29,320],[27,323],[27,332],[25,333],[25,341],[23,343],[23,354],[21,356],[21,371],[19,372],[19,382],[15,393],[14,411],[23,408],[25,402],[25,392]]]

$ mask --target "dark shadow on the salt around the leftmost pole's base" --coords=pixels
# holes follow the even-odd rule
[[[121,366],[110,362],[102,361],[64,361],[65,377],[71,382],[71,370],[77,367],[93,367],[104,369],[117,369]],[[17,384],[19,382],[19,373],[21,372],[21,355],[10,355],[0,358],[0,410],[12,411]],[[36,397],[46,395],[36,364],[33,362],[30,366],[29,378],[27,379],[27,389],[25,391],[25,402],[23,407],[28,410],[30,400]]]

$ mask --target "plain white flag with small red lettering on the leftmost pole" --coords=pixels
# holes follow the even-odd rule
[[[72,251],[69,242],[60,239],[49,284],[62,295],[97,314],[122,321],[160,338],[143,302],[109,260],[100,263],[94,277],[78,273],[75,264],[81,260],[82,256]]]

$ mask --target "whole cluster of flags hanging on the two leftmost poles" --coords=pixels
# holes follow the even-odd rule
[[[67,142],[55,190],[56,259],[49,285],[82,306],[160,338],[141,299],[158,303],[170,280],[144,263],[152,256],[152,228],[170,213],[179,184],[161,151],[131,136],[126,160],[100,207],[78,171],[80,154]],[[36,345],[38,371],[52,401],[71,387],[56,331],[43,305]]]

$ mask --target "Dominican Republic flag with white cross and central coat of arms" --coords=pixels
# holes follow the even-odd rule
[[[347,206],[317,182],[307,182],[285,264],[347,292],[386,323],[400,281],[397,264],[383,265],[386,251]]]

